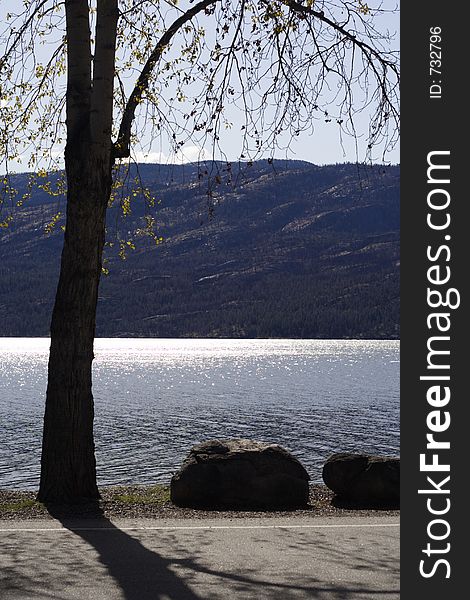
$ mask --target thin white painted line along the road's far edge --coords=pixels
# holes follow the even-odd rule
[[[345,523],[328,525],[156,525],[151,527],[21,527],[21,528],[1,528],[0,533],[22,533],[22,532],[45,532],[45,531],[198,531],[207,529],[340,529],[340,528],[377,528],[377,527],[400,527],[399,523]]]

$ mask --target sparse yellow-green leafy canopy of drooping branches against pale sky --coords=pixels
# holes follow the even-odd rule
[[[389,34],[378,30],[387,13],[382,3],[2,4],[8,9],[0,34],[0,157],[5,172],[18,160],[29,170],[49,169],[63,153],[67,7],[77,11],[76,22],[88,19],[79,52],[81,60],[87,57],[85,85],[95,98],[103,64],[97,62],[99,31],[113,29],[106,6],[115,5],[118,11],[112,131],[116,158],[160,143],[175,152],[191,143],[221,157],[221,138],[228,129],[240,140],[240,157],[255,159],[313,132],[318,121],[334,123],[342,135],[367,138],[370,151],[379,146],[384,152],[397,141],[398,57]],[[356,122],[364,112],[367,130],[358,129]]]

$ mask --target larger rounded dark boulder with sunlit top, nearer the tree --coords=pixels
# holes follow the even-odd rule
[[[309,476],[290,452],[252,440],[209,440],[191,448],[171,479],[178,506],[293,509],[308,502]]]

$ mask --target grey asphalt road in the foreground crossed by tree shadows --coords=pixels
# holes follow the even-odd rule
[[[399,597],[396,518],[0,521],[1,600]]]

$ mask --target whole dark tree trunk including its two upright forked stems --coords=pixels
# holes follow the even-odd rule
[[[65,14],[67,222],[51,322],[38,493],[38,500],[50,503],[99,498],[91,379],[106,208],[112,185],[117,0],[97,3],[94,59],[88,0],[65,0]]]

